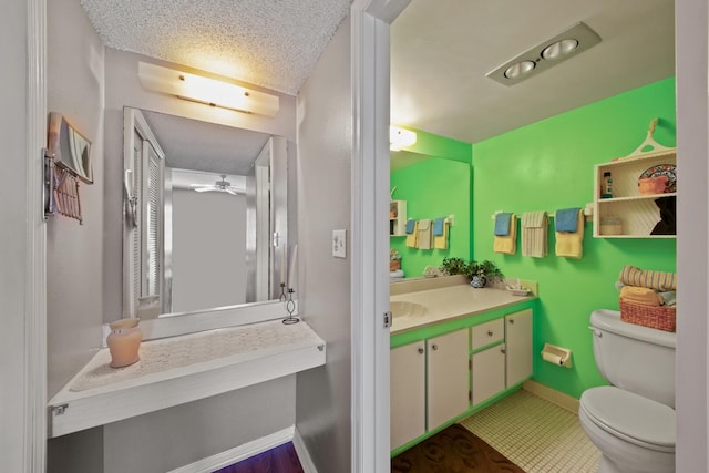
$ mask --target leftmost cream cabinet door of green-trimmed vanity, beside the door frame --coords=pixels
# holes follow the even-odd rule
[[[391,366],[391,449],[425,433],[425,356],[418,341],[393,348]]]

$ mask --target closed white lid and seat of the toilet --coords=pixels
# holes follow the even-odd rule
[[[603,430],[654,450],[675,450],[675,410],[647,398],[610,385],[582,394],[580,408]]]

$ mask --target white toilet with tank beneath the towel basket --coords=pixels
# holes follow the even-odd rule
[[[594,356],[613,385],[580,397],[578,419],[603,457],[599,473],[675,471],[676,335],[620,320],[620,312],[590,315]]]

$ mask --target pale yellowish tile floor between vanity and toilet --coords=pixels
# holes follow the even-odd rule
[[[520,391],[460,422],[526,473],[595,473],[600,452],[578,415]]]

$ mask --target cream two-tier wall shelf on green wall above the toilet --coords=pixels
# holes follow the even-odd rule
[[[643,195],[638,192],[639,176],[653,166],[660,164],[677,165],[677,150],[640,153],[620,157],[595,166],[594,181],[594,237],[595,238],[676,238],[676,235],[650,235],[660,220],[660,212],[655,200],[660,197],[675,197],[676,192]],[[604,174],[613,178],[613,197],[602,198]],[[621,229],[602,226],[602,219],[618,217]]]

